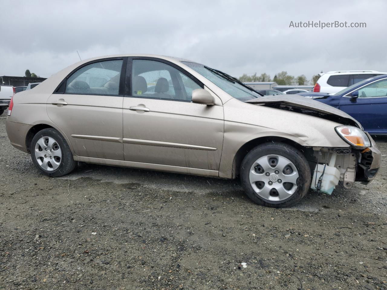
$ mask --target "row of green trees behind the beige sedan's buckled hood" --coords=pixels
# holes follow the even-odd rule
[[[243,73],[239,80],[241,82],[276,82],[278,85],[314,85],[319,79],[319,75],[313,75],[311,80],[308,80],[305,75],[299,75],[295,77],[293,75],[288,75],[288,72],[282,71],[274,75],[272,79],[267,73],[262,73],[257,75],[247,75]]]

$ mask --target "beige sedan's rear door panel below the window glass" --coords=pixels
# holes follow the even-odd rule
[[[120,96],[52,94],[46,106],[76,155],[123,160],[122,102]]]

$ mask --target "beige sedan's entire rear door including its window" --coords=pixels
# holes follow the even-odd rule
[[[86,63],[47,101],[49,118],[78,156],[123,160],[122,102],[127,58]]]

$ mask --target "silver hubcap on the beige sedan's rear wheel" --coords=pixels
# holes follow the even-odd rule
[[[54,138],[44,136],[36,142],[35,158],[40,167],[54,171],[62,162],[62,150]]]

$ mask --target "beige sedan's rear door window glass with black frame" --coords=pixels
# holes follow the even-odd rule
[[[73,73],[66,93],[118,95],[123,60],[106,60],[86,65]]]

